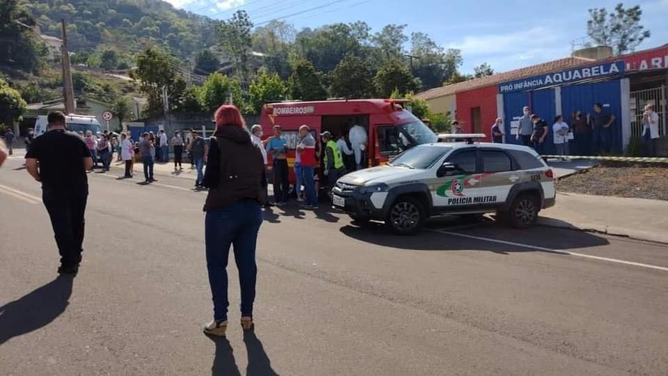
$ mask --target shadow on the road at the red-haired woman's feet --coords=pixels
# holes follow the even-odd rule
[[[234,350],[230,341],[225,337],[207,336],[216,344],[216,354],[214,364],[211,367],[212,376],[241,376],[239,366],[234,359]],[[264,351],[264,346],[260,339],[255,336],[255,331],[244,331],[244,343],[246,352],[248,352],[248,368],[246,376],[279,376],[271,368],[271,361]]]

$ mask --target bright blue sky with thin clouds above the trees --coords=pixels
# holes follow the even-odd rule
[[[570,56],[572,42],[587,36],[589,8],[612,10],[619,1],[599,0],[166,0],[176,8],[216,19],[246,10],[255,24],[284,19],[297,30],[364,21],[372,32],[407,24],[444,48],[461,49],[461,72],[489,63],[495,72]],[[547,5],[549,4],[549,5]],[[642,0],[642,24],[651,31],[639,49],[668,44],[668,0]],[[407,48],[409,46],[406,46]]]

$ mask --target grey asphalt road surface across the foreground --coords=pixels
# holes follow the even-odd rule
[[[230,263],[233,324],[214,341],[205,192],[90,174],[84,263],[57,278],[21,162],[0,170],[0,375],[668,374],[665,245],[459,219],[395,237],[274,210],[255,332],[235,324]]]

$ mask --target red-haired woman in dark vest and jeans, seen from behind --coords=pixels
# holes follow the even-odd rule
[[[255,300],[255,246],[262,224],[264,160],[250,141],[239,109],[223,104],[215,113],[216,132],[211,139],[207,171],[202,185],[209,188],[204,204],[205,242],[214,320],[205,334],[224,336],[228,327],[228,255],[234,261],[241,287],[241,326],[253,327]]]

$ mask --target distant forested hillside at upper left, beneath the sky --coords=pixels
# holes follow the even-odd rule
[[[189,57],[213,45],[212,19],[176,10],[161,0],[23,0],[42,33],[61,36],[67,22],[70,51],[116,46],[134,54],[148,45],[161,45],[177,56]]]

